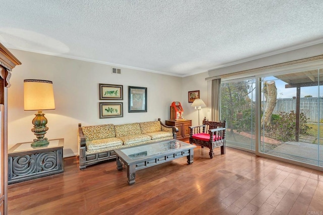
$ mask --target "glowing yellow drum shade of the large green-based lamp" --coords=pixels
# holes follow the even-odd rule
[[[51,81],[24,80],[25,111],[40,111],[55,109],[54,92]]]

